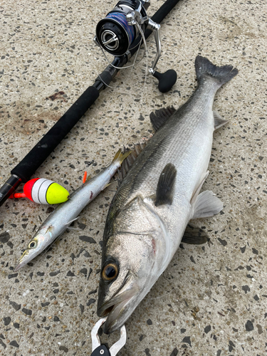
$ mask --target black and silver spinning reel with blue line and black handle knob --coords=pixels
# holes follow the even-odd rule
[[[166,93],[176,83],[177,73],[173,69],[165,73],[155,70],[161,53],[160,25],[147,16],[149,6],[150,0],[120,0],[105,19],[98,22],[94,41],[102,50],[115,57],[130,58],[134,49],[142,42],[145,43],[145,30],[152,31],[157,53],[149,72],[159,80],[159,91]]]

